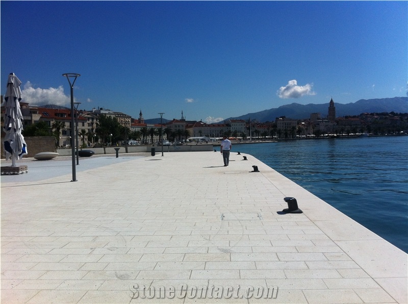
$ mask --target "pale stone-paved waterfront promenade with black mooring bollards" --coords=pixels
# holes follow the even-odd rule
[[[407,254],[251,155],[95,156],[2,176],[2,303],[408,302]]]

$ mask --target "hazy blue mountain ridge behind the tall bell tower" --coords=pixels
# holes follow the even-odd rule
[[[329,103],[323,104],[299,104],[291,103],[271,108],[256,113],[248,113],[239,117],[231,117],[228,119],[256,119],[259,122],[274,121],[276,117],[286,116],[293,119],[310,118],[312,113],[320,113],[322,118],[326,118],[328,114]],[[354,103],[336,103],[336,117],[348,115],[359,115],[362,113],[381,113],[381,112],[396,112],[408,113],[408,97],[394,98],[377,98],[377,99],[360,99]]]

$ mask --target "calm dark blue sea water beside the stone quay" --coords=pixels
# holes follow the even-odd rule
[[[408,136],[243,144],[233,151],[253,155],[408,253]]]

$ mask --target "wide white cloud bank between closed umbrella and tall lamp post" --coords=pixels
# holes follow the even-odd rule
[[[28,102],[32,105],[56,104],[68,105],[71,102],[70,95],[65,95],[64,88],[34,89],[30,81],[24,85],[21,91],[21,98],[23,102]]]

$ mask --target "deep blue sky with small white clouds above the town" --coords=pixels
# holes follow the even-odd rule
[[[1,94],[214,122],[407,95],[408,2],[2,1]]]

